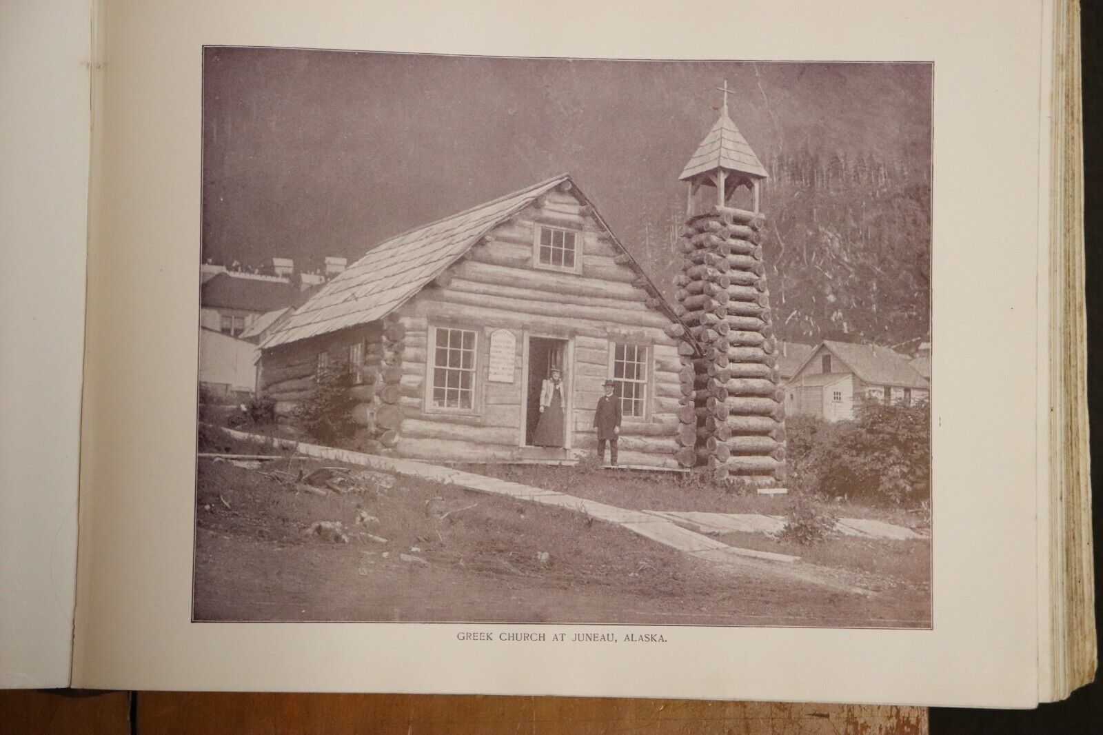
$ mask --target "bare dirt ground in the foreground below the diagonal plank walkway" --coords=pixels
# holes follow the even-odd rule
[[[222,438],[201,450],[258,451]],[[285,457],[263,469],[274,466],[322,462]],[[199,460],[197,477],[196,620],[930,625],[917,562],[929,555],[924,542],[864,550],[839,540],[833,573],[874,590],[867,598],[732,572],[571,511],[414,478],[318,496],[211,459]],[[311,532],[319,521],[340,522],[347,542]],[[765,536],[725,541],[786,551]],[[855,565],[856,554],[882,561]]]

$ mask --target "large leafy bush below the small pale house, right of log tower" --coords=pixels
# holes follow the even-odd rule
[[[931,409],[866,400],[852,422],[794,416],[785,422],[790,484],[805,493],[872,502],[931,497]]]

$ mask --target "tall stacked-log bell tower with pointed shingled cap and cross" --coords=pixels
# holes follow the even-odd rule
[[[673,331],[695,345],[681,371],[678,415],[687,425],[678,460],[717,479],[771,486],[785,479],[785,404],[762,260],[759,187],[768,174],[728,116],[728,83],[717,88],[720,118],[678,177],[689,191],[675,310],[688,333],[681,324]],[[705,187],[716,199],[698,213]],[[741,187],[750,210],[732,205]]]

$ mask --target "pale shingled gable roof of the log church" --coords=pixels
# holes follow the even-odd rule
[[[268,349],[384,318],[456,263],[490,230],[568,181],[570,177],[564,173],[384,241],[325,284],[261,347]],[[574,191],[585,200],[577,187]],[[593,217],[609,232],[597,209]],[[646,279],[647,290],[661,300],[664,313],[672,321],[681,321],[615,235],[612,239],[629,256],[631,267]]]

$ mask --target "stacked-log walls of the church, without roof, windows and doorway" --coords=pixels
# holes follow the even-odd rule
[[[537,228],[545,225],[577,233],[575,269],[534,265]],[[645,415],[624,418],[620,462],[675,469],[683,448],[678,444],[677,411],[683,397],[678,341],[666,333],[672,320],[658,310],[658,295],[641,279],[642,273],[585,202],[572,191],[549,192],[484,235],[449,267],[446,277],[426,286],[389,315],[386,323],[366,330],[368,341],[376,345],[372,359],[377,360],[379,371],[361,390],[362,403],[354,417],[373,440],[382,443],[383,450],[399,456],[470,462],[532,459],[533,448],[524,446],[525,345],[534,335],[558,338],[568,340],[569,351],[564,364],[569,387],[568,447],[555,459],[576,458],[597,447],[593,414],[610,375],[612,345],[641,344],[647,348]],[[428,390],[432,331],[447,327],[478,333],[471,411],[435,406]],[[508,330],[515,339],[512,382],[489,380],[490,337],[499,329]],[[399,331],[400,344],[396,344],[387,335]],[[267,384],[271,390],[266,392],[286,412],[309,394],[319,348],[347,353],[356,339],[365,334],[345,330],[272,350],[263,371],[272,376]],[[379,425],[381,416],[386,426]]]

